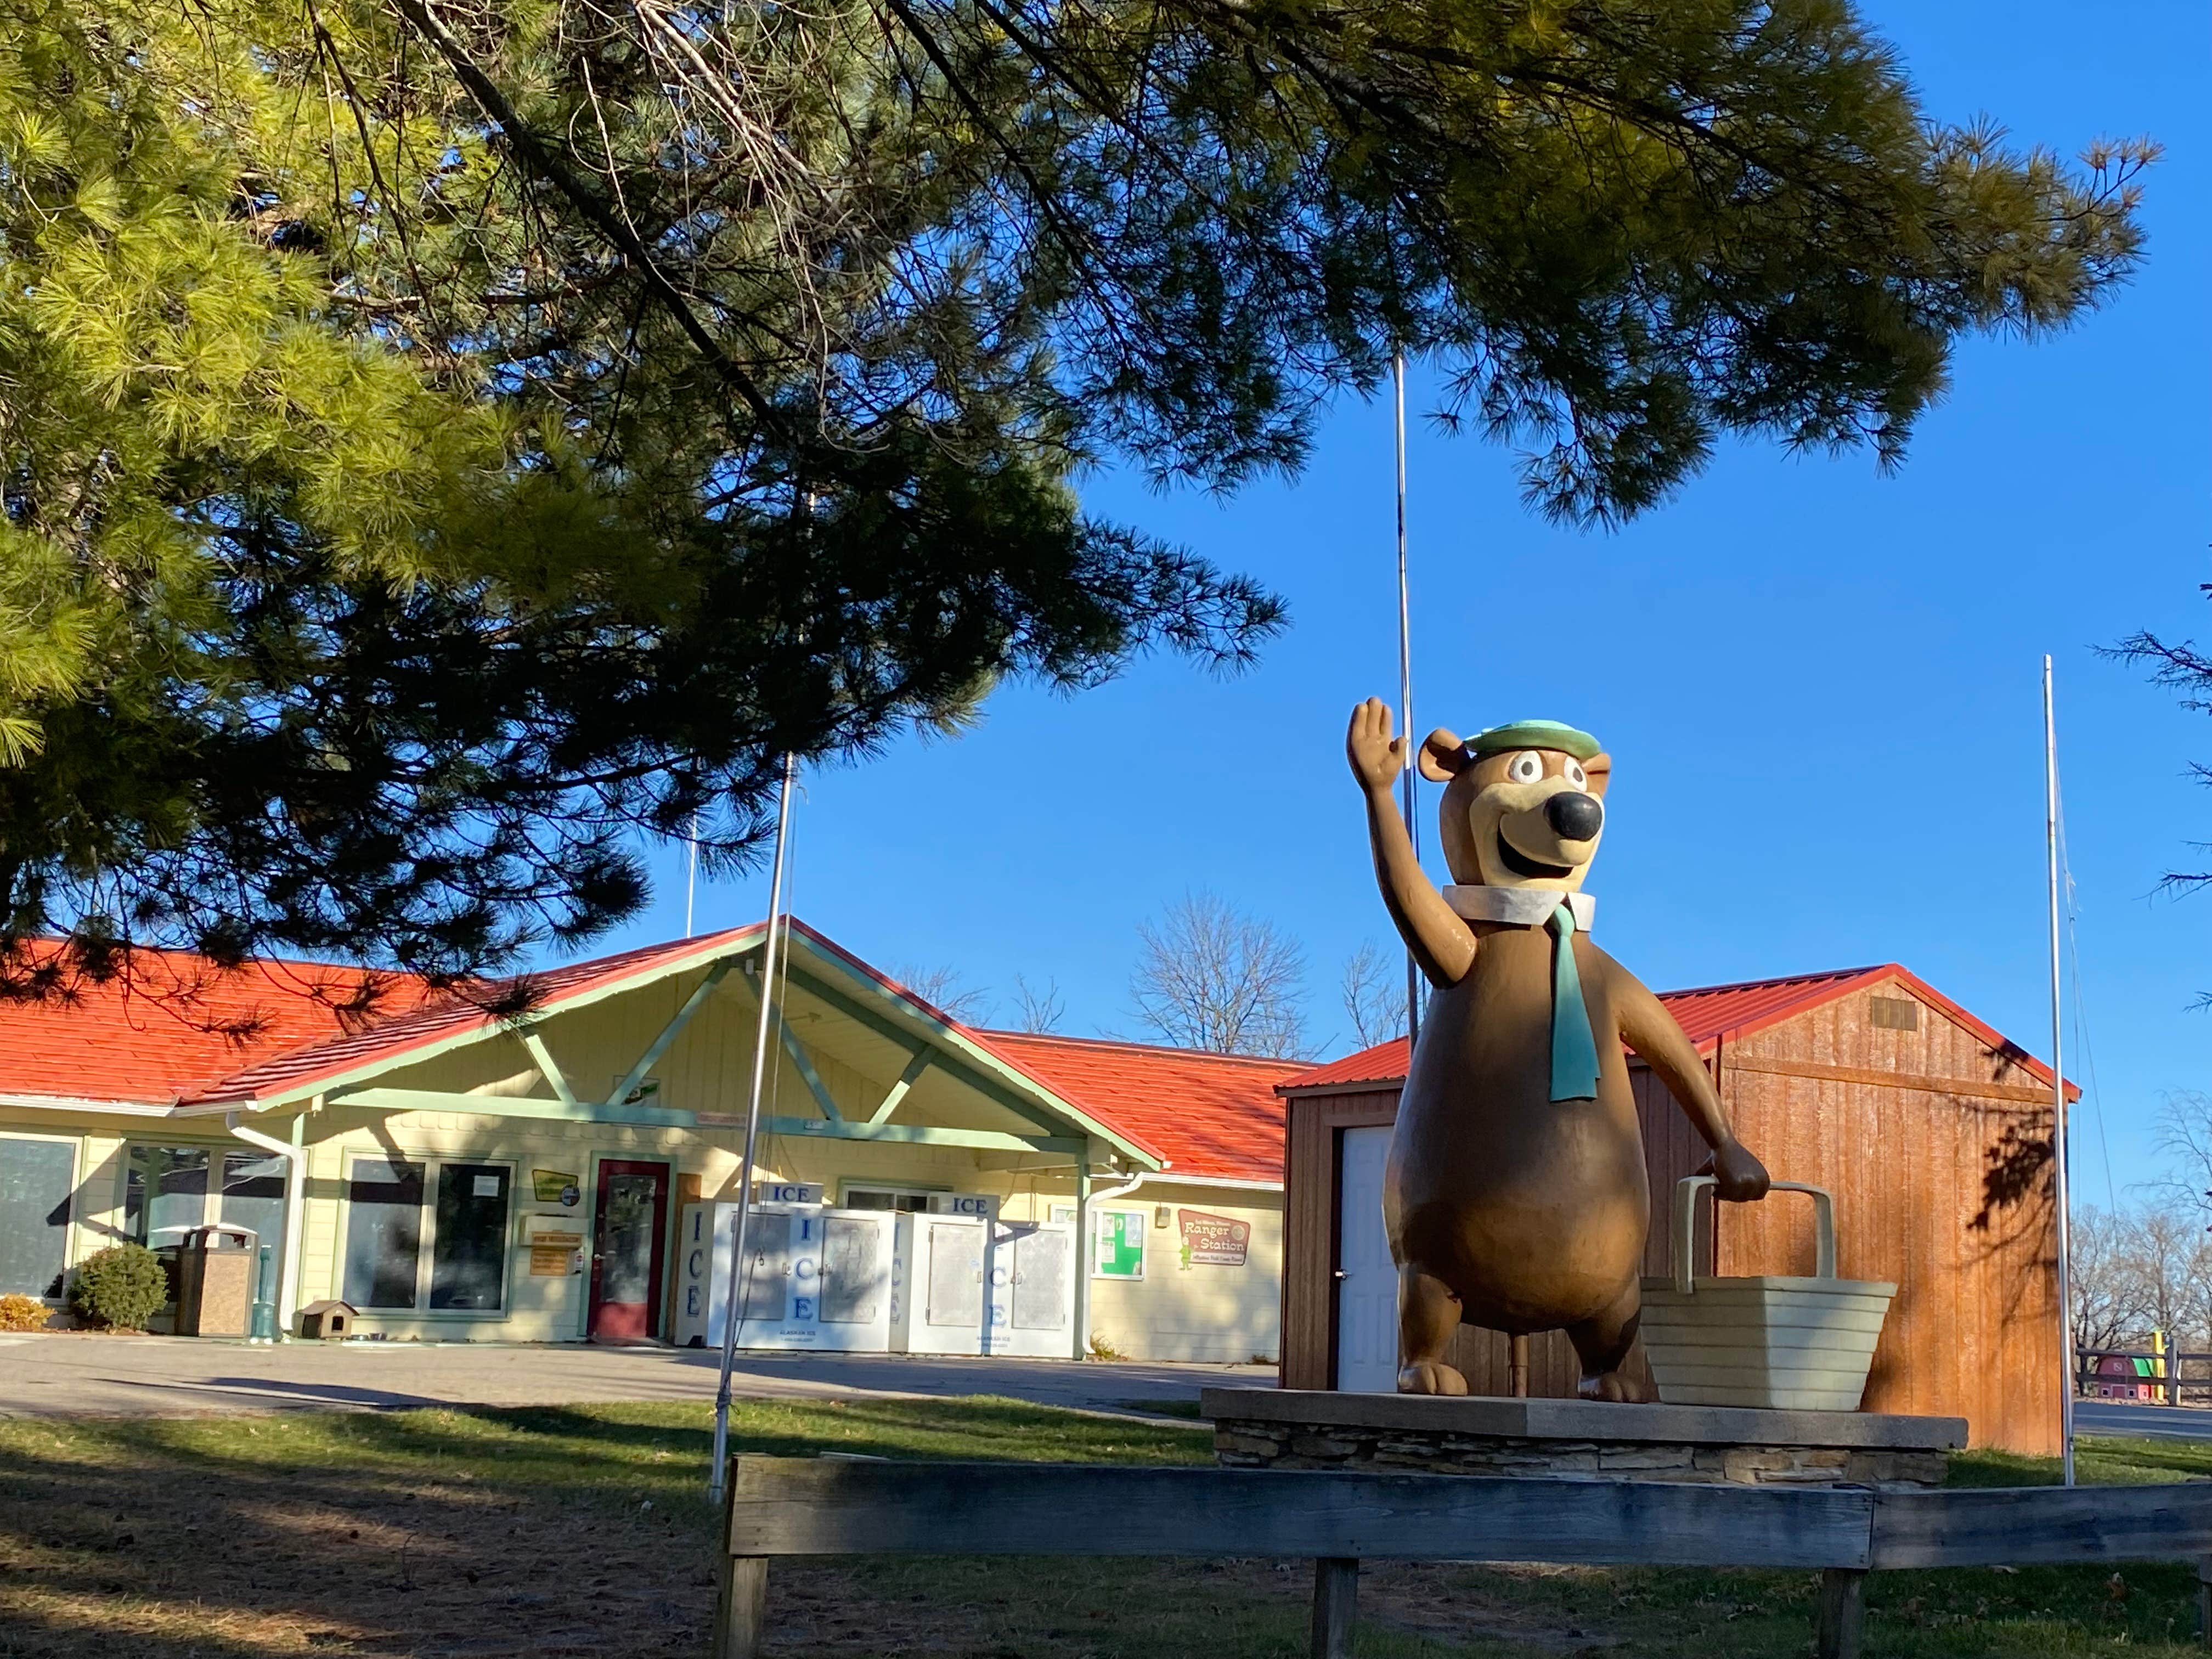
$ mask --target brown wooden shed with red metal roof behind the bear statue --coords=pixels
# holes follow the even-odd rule
[[[1898,1283],[1865,1409],[1962,1416],[1978,1447],[2055,1453],[2051,1068],[1893,962],[1672,991],[1663,1002],[1705,1057],[1743,1144],[1776,1179],[1836,1194],[1838,1272]],[[1396,1340],[1380,1336],[1380,1287],[1358,1290],[1376,1281],[1369,1259],[1380,1221],[1369,1225],[1365,1206],[1378,1192],[1376,1152],[1387,1135],[1356,1130],[1387,1130],[1396,1119],[1405,1062],[1400,1037],[1279,1088],[1290,1106],[1287,1389],[1376,1387],[1374,1345]],[[1652,1188],[1646,1272],[1657,1274],[1668,1272],[1663,1219],[1674,1181],[1699,1168],[1705,1146],[1632,1055],[1630,1079]],[[1349,1263],[1347,1203],[1360,1230]],[[1812,1272],[1812,1217],[1801,1199],[1719,1210],[1719,1225],[1703,1230],[1699,1272]],[[1354,1354],[1340,1352],[1347,1329],[1365,1380],[1349,1376]],[[1506,1394],[1506,1340],[1495,1332],[1462,1327],[1451,1363],[1475,1394]],[[1630,1365],[1641,1363],[1639,1352]],[[1531,1340],[1528,1389],[1575,1391],[1575,1354],[1562,1334]]]

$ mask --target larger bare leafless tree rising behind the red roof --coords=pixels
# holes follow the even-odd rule
[[[1223,1055],[1305,1053],[1305,951],[1274,922],[1199,891],[1139,922],[1137,940],[1128,993],[1161,1037]]]

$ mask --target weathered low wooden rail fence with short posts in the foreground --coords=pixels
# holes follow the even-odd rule
[[[1352,1655],[1363,1559],[1818,1568],[1816,1650],[1858,1659],[1869,1571],[2194,1559],[2212,1586],[2212,1482],[1889,1493],[734,1458],[714,1659],[759,1659],[776,1555],[1305,1557],[1314,1659]]]

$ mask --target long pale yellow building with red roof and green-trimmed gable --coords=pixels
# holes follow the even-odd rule
[[[1073,1221],[1071,1349],[1274,1358],[1292,1062],[969,1029],[794,922],[757,1175],[845,1210]],[[436,993],[142,953],[0,1009],[0,1292],[250,1228],[283,1329],[668,1340],[681,1208],[734,1199],[765,927]]]

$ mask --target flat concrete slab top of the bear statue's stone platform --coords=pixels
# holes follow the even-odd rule
[[[1714,1447],[1865,1447],[1955,1451],[1966,1418],[1878,1411],[1752,1411],[1732,1405],[1610,1405],[1606,1400],[1502,1400],[1478,1394],[1336,1394],[1327,1389],[1201,1389],[1199,1413],[1219,1422],[1296,1422],[1343,1429],[1411,1429],[1498,1440],[1613,1440]]]

